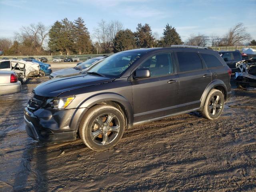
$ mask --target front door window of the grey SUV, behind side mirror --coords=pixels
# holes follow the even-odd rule
[[[156,54],[144,61],[138,68],[148,68],[151,77],[172,74],[173,64],[171,54]]]

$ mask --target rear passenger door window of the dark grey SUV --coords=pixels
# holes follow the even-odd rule
[[[203,68],[202,61],[195,52],[177,52],[180,72],[200,70]]]

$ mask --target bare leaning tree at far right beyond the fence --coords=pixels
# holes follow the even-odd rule
[[[250,34],[246,31],[246,27],[242,23],[238,23],[233,28],[230,28],[224,37],[227,46],[242,45],[244,41],[248,41],[250,38]]]

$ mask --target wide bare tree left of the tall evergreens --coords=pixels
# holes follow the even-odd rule
[[[16,33],[16,38],[27,46],[31,46],[38,53],[41,52],[44,42],[48,37],[48,28],[38,22],[38,24],[30,24],[29,26],[22,26],[19,33]]]

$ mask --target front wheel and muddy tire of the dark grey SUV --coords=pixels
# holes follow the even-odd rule
[[[117,144],[124,134],[124,127],[125,120],[120,110],[100,104],[86,112],[79,126],[79,135],[90,149],[102,151]]]

